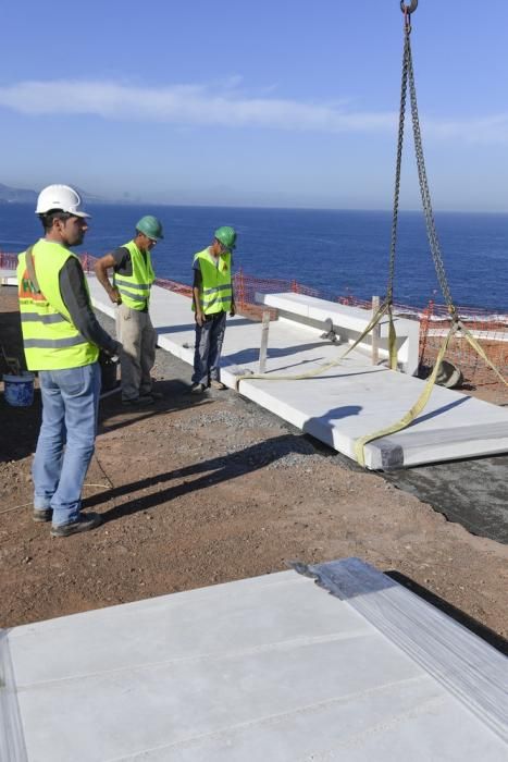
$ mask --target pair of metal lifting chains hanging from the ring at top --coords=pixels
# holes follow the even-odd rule
[[[420,132],[420,120],[418,115],[418,102],[417,102],[417,88],[414,86],[414,72],[412,67],[412,56],[411,56],[411,44],[410,34],[411,25],[409,23],[410,14],[416,10],[418,5],[418,0],[412,0],[410,5],[406,5],[404,0],[400,2],[400,9],[405,16],[405,35],[404,35],[404,58],[402,58],[402,82],[400,88],[400,112],[399,112],[399,125],[398,125],[398,139],[397,139],[397,162],[395,170],[395,193],[394,193],[394,210],[393,210],[393,222],[392,222],[392,241],[389,247],[389,267],[388,267],[388,285],[386,288],[386,302],[388,305],[393,303],[393,288],[394,288],[394,278],[395,278],[395,249],[397,243],[397,223],[398,223],[398,205],[399,205],[399,194],[400,194],[400,167],[402,160],[402,145],[404,145],[404,122],[406,114],[406,97],[409,83],[409,95],[411,102],[411,118],[412,118],[412,131],[414,136],[414,150],[417,156],[417,167],[418,167],[418,180],[420,184],[420,194],[422,198],[423,213],[425,217],[426,234],[429,238],[429,244],[431,247],[431,254],[434,261],[434,268],[436,271],[437,280],[439,282],[441,291],[443,297],[448,307],[448,312],[450,317],[457,321],[457,310],[451,300],[451,294],[448,286],[448,281],[446,278],[445,267],[443,263],[443,258],[439,249],[439,242],[437,238],[437,233],[435,229],[434,214],[432,211],[431,193],[429,190],[429,183],[426,179],[425,171],[425,160],[423,157],[423,146],[422,137]]]

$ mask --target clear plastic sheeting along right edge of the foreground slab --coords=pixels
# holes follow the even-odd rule
[[[347,600],[508,742],[508,660],[501,653],[359,558],[295,568]]]

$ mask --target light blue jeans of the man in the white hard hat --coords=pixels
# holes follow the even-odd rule
[[[97,432],[99,364],[40,370],[39,383],[42,425],[32,468],[34,507],[52,508],[58,527],[79,517]]]

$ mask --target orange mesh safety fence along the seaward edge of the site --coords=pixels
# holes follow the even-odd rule
[[[91,254],[80,255],[86,272],[94,271],[97,260]],[[17,267],[17,255],[0,251],[0,269],[14,270]],[[190,285],[164,278],[156,280],[157,285],[177,294],[191,297]],[[278,278],[258,278],[249,275],[239,269],[233,276],[235,302],[238,312],[260,320],[263,307],[256,304],[256,294],[277,294],[293,292],[306,294],[329,302],[360,307],[372,310],[372,303],[359,299],[352,294],[336,295],[324,290],[307,286],[296,280]],[[462,323],[468,328],[490,360],[497,367],[501,376],[508,377],[508,314],[497,314],[492,310],[471,307],[458,307],[457,311]],[[274,311],[272,310],[274,317]],[[434,366],[443,339],[449,329],[449,317],[446,305],[429,302],[425,306],[412,307],[405,304],[394,304],[394,315],[420,321],[419,376],[424,378]],[[484,362],[471,345],[460,335],[456,335],[446,352],[445,359],[456,366],[463,376],[463,391],[474,392],[496,404],[508,404],[508,391],[496,377],[494,371]]]

